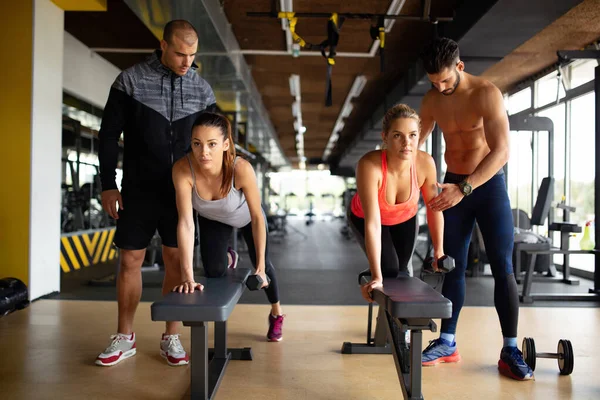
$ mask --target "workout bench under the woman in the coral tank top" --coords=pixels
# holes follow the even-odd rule
[[[369,271],[361,272],[359,283],[367,283],[370,275]],[[450,318],[452,303],[422,280],[409,276],[384,278],[383,289],[373,290],[372,298],[379,305],[375,337],[371,338],[373,303],[369,303],[367,343],[345,342],[342,353],[392,353],[404,399],[422,400],[423,330],[436,332],[433,319]],[[404,340],[407,330],[410,330],[410,344]]]

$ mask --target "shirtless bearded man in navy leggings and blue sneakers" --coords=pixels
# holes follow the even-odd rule
[[[504,343],[498,369],[517,380],[533,377],[517,348],[519,297],[512,268],[513,220],[502,167],[509,157],[509,125],[500,90],[464,71],[458,44],[438,38],[423,51],[433,88],[424,96],[419,145],[437,123],[446,141],[448,165],[441,193],[429,203],[444,214],[444,252],[456,261],[442,294],[452,301],[452,317],[442,321],[440,337],[423,351],[423,365],[457,362],[456,325],[465,299],[467,252],[479,224],[495,281],[494,303]]]

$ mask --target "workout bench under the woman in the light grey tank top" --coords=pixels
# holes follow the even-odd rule
[[[252,360],[252,349],[227,348],[227,319],[242,296],[250,269],[227,269],[221,278],[199,278],[202,291],[168,293],[151,306],[153,321],[182,321],[191,328],[191,398],[213,399],[229,360]],[[208,348],[214,322],[214,349]],[[209,362],[210,361],[210,362]]]

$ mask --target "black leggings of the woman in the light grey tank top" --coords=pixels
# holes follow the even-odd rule
[[[265,226],[267,221],[265,219]],[[204,272],[208,278],[218,278],[225,275],[227,271],[227,247],[229,239],[233,233],[233,227],[218,221],[213,221],[198,215],[198,227],[200,231],[200,255]],[[256,247],[254,246],[254,237],[252,236],[252,223],[244,226],[242,229],[244,241],[248,245],[248,254],[252,265],[256,268]],[[269,258],[269,232],[267,228],[267,245],[265,248],[265,273],[271,279],[271,283],[265,289],[269,303],[274,304],[279,301],[279,289],[277,288],[277,278],[275,268]]]

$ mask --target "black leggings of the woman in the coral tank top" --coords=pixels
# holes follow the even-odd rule
[[[365,254],[365,220],[348,211],[350,227]],[[398,275],[412,276],[412,255],[415,251],[419,225],[415,215],[398,225],[381,226],[381,275],[395,278]]]

